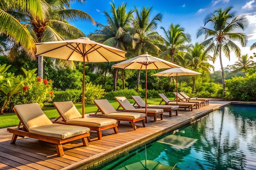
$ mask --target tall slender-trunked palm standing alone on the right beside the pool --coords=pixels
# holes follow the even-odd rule
[[[213,53],[214,61],[220,57],[220,67],[222,72],[222,87],[223,97],[225,97],[225,77],[222,66],[222,52],[226,57],[230,59],[230,53],[234,51],[235,55],[239,57],[241,55],[240,48],[232,40],[239,41],[242,46],[245,46],[247,42],[247,36],[244,33],[234,33],[236,29],[244,29],[247,25],[247,18],[245,15],[236,15],[231,11],[232,7],[227,9],[215,10],[213,13],[206,16],[204,19],[204,25],[207,23],[213,24],[213,29],[209,29],[201,26],[198,29],[197,37],[204,34],[205,39],[202,44],[207,46],[205,53]],[[209,39],[207,39],[209,38]]]

